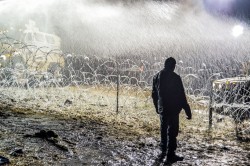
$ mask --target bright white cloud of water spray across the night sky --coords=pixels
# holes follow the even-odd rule
[[[64,52],[105,57],[185,55],[209,52],[218,44],[223,52],[236,44],[245,47],[250,38],[247,24],[211,15],[198,0],[5,0],[0,1],[0,20],[0,28],[14,37],[33,20],[40,31],[61,38]],[[232,29],[238,24],[244,35],[236,39]]]

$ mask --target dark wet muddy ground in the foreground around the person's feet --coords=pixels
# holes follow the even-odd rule
[[[58,137],[51,141],[37,136],[42,130]],[[10,159],[9,165],[164,165],[157,162],[158,137],[87,118],[0,110],[0,155]],[[236,141],[209,141],[180,132],[178,146],[185,159],[173,165],[250,165],[249,148]],[[22,153],[13,154],[18,149]]]

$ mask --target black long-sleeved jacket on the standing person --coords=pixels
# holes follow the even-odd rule
[[[158,114],[176,116],[184,109],[191,117],[181,78],[172,70],[163,69],[154,76],[152,98]]]

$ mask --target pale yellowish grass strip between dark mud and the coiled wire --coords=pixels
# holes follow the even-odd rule
[[[68,87],[65,89],[59,89],[62,93],[61,96],[56,96],[58,89],[49,89],[47,91],[52,92],[51,97],[63,98],[61,103],[67,98],[73,97],[73,104],[67,107],[58,106],[59,99],[52,101],[51,107],[42,107],[44,103],[44,94],[36,95],[35,98],[40,100],[35,105],[29,105],[26,100],[16,103],[5,103],[6,109],[19,114],[28,115],[46,115],[53,116],[57,119],[74,119],[79,121],[89,121],[95,123],[101,123],[108,126],[110,134],[119,135],[119,137],[139,137],[139,136],[159,136],[159,117],[155,112],[150,97],[150,91],[138,90],[136,88],[121,88],[119,98],[119,112],[116,112],[115,95],[116,91],[110,87]],[[71,93],[63,94],[63,91],[69,90]],[[41,91],[44,91],[41,89]],[[20,91],[22,93],[23,90]],[[33,92],[33,91],[31,91]],[[29,93],[26,91],[26,93]],[[36,92],[39,93],[39,89]],[[16,93],[17,97],[19,94]],[[28,94],[26,94],[28,96]],[[65,98],[64,98],[65,97]],[[99,100],[98,100],[99,99]],[[95,101],[93,101],[95,100]],[[26,101],[22,103],[23,101]],[[46,101],[46,100],[45,100]],[[180,134],[181,137],[188,137],[188,135],[196,135],[200,139],[216,140],[227,139],[235,140],[235,124],[231,118],[215,114],[213,116],[213,126],[209,129],[208,126],[208,107],[206,105],[199,104],[192,98],[189,98],[189,103],[193,110],[193,119],[191,121],[186,120],[184,111],[180,115],[180,129],[184,134]],[[118,134],[118,133],[119,134]],[[188,134],[186,134],[188,133]]]

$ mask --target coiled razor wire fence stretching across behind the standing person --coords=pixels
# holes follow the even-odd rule
[[[0,35],[0,54],[3,103],[12,101],[38,112],[78,110],[97,116],[99,112],[128,114],[134,110],[141,111],[144,121],[149,121],[145,110],[153,112],[152,78],[166,58],[71,55],[26,45],[5,34]],[[199,123],[196,129],[200,125],[208,128],[209,124],[218,131],[228,129],[226,136],[232,135],[235,127],[237,138],[249,136],[249,84],[217,91],[212,86],[218,79],[243,76],[242,63],[249,59],[175,58],[176,72],[182,77]]]

